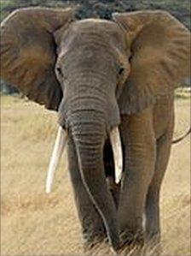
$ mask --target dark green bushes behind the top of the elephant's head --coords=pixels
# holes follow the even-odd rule
[[[132,11],[137,9],[165,9],[185,26],[190,28],[189,0],[2,0],[1,20],[14,9],[29,6],[44,7],[77,7],[76,16],[79,19],[100,17],[110,19],[113,12]]]

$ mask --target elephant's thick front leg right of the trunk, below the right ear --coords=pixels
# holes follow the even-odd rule
[[[123,116],[124,176],[119,199],[119,229],[126,244],[144,241],[142,216],[155,164],[155,139],[150,110]]]

